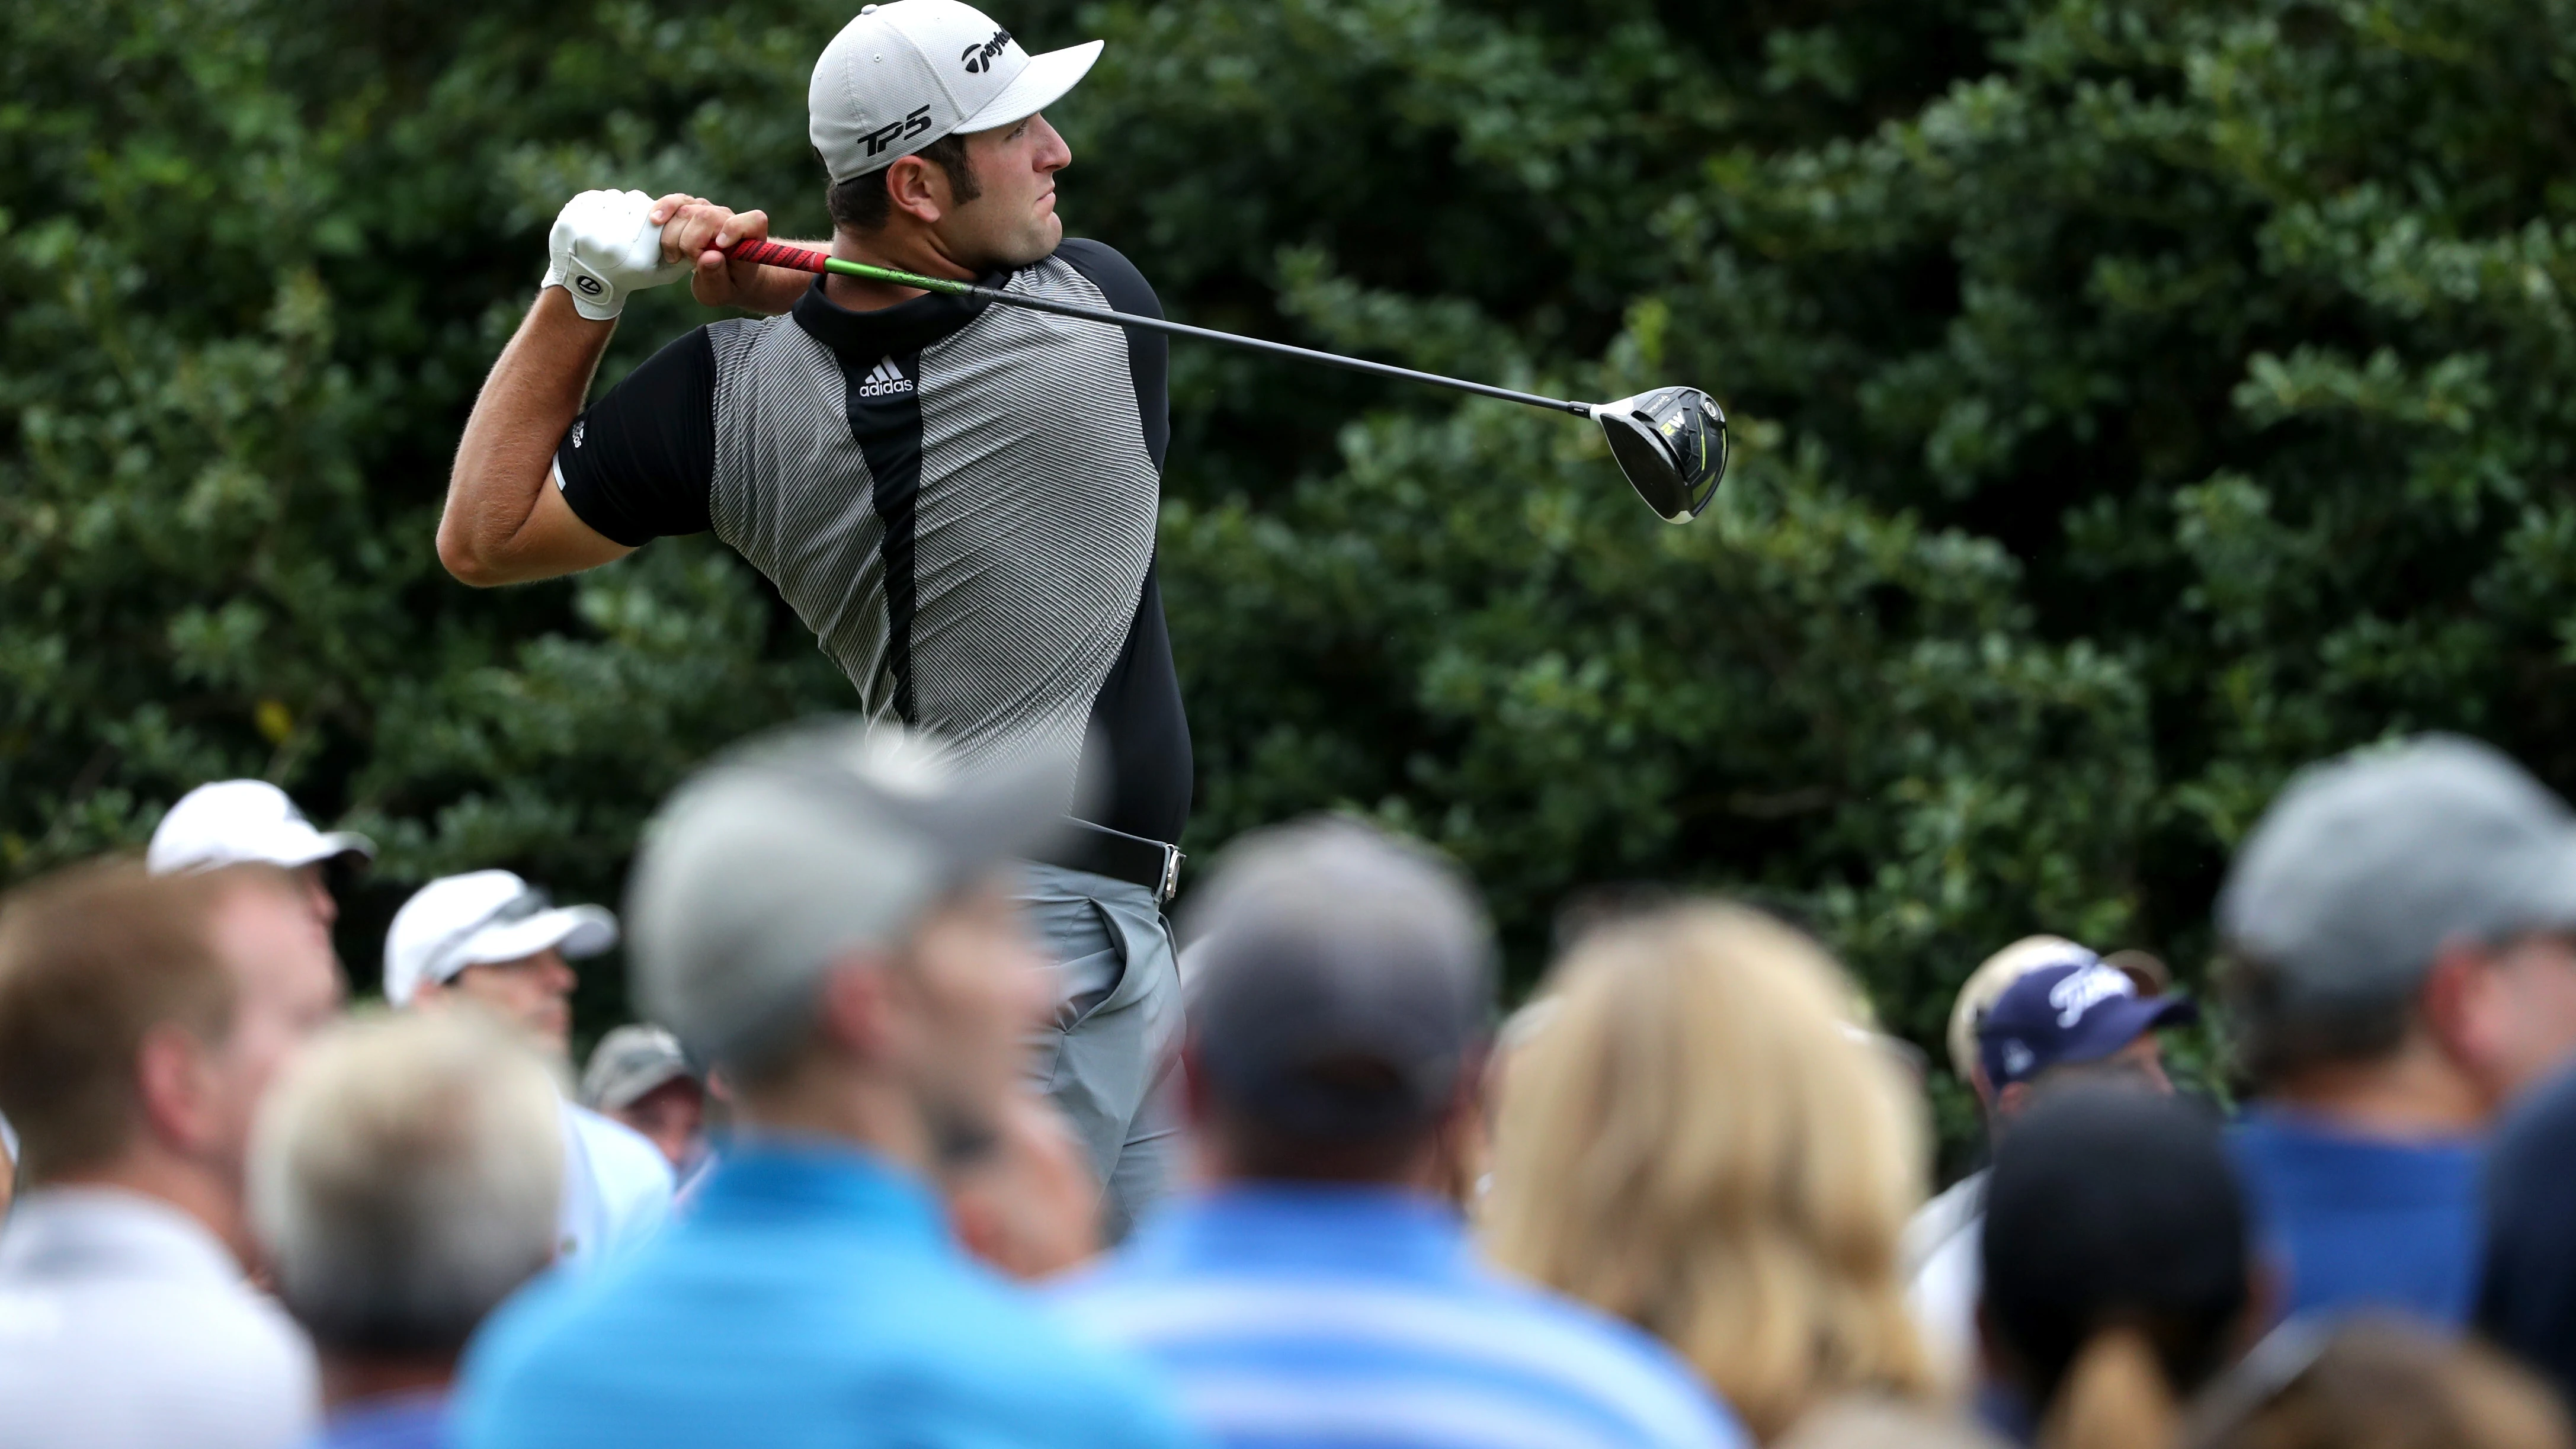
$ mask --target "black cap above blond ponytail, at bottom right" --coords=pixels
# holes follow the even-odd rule
[[[2218,1125],[2141,1086],[2063,1086],[2012,1120],[1981,1251],[1986,1315],[2043,1398],[2112,1323],[2143,1328],[2192,1390],[2246,1307],[2246,1204]]]

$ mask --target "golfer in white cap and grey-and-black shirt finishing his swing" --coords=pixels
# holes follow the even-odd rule
[[[866,5],[824,46],[809,134],[840,257],[1159,317],[1118,252],[1064,239],[1041,108],[1100,41],[1028,54],[961,0]],[[1061,963],[1041,1081],[1084,1135],[1110,1233],[1159,1189],[1180,978],[1162,906],[1190,726],[1154,587],[1170,443],[1159,335],[732,263],[760,211],[592,190],[456,450],[438,556],[551,579],[714,530],[796,607],[860,708],[963,767],[1064,759],[1074,842],[1025,872]],[[824,250],[819,242],[809,247]],[[688,275],[765,317],[698,327],[587,412],[618,309]]]

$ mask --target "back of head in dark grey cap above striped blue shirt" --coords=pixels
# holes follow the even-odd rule
[[[1309,1140],[1430,1125],[1494,1019],[1494,947],[1455,870],[1345,818],[1244,836],[1188,914],[1211,1091]]]

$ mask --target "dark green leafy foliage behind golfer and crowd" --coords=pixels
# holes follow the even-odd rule
[[[587,185],[822,229],[842,0],[0,8],[0,872],[265,775],[410,883],[616,898],[716,744],[845,700],[711,540],[477,595],[430,548]],[[1484,883],[1803,914],[1935,1042],[2032,929],[2190,973],[2298,762],[2576,782],[2576,5],[1012,0],[1105,36],[1064,214],[1185,319],[1713,389],[1651,520],[1589,430],[1175,350],[1188,847],[1319,806]],[[626,314],[608,378],[701,322]],[[585,1022],[618,1011],[592,973]]]

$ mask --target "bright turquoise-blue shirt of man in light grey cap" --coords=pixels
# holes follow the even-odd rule
[[[1190,1444],[1144,1369],[969,1261],[922,1184],[737,1140],[698,1207],[477,1336],[459,1449]]]

